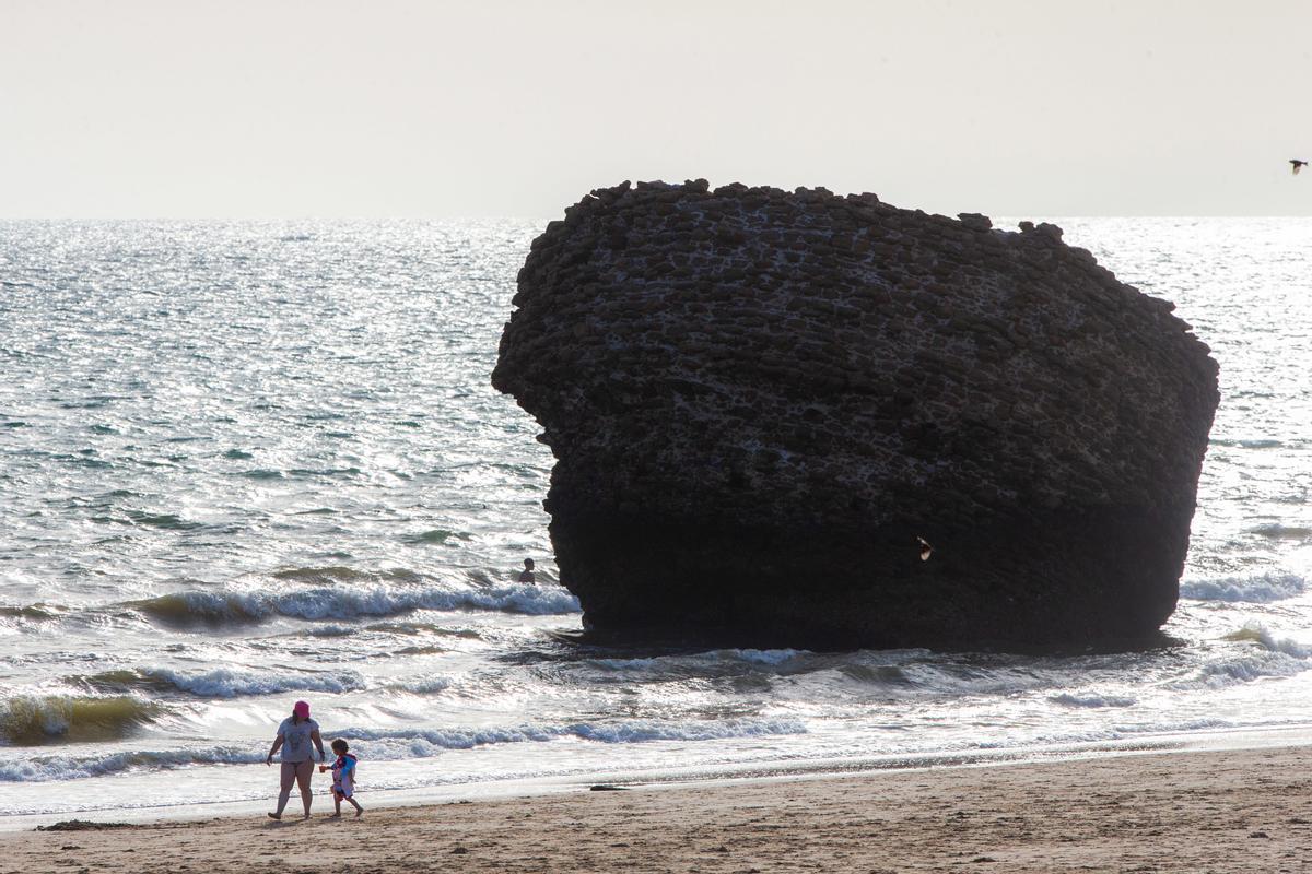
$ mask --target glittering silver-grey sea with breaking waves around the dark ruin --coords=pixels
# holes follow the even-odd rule
[[[488,384],[543,223],[0,223],[0,815],[269,798],[302,697],[362,798],[1312,736],[1312,221],[1057,223],[1221,366],[1148,651],[580,647]]]

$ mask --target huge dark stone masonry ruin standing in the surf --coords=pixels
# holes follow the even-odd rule
[[[1216,364],[1054,225],[625,183],[514,304],[493,384],[597,629],[1060,645],[1174,609]]]

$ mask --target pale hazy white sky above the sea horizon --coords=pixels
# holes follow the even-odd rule
[[[0,216],[1312,214],[1303,0],[0,0]]]

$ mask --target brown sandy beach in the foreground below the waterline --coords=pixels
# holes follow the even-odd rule
[[[1309,767],[1307,747],[1176,752],[370,808],[358,820],[324,818],[320,797],[308,822],[0,835],[0,870],[1308,871]]]

